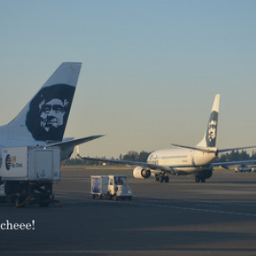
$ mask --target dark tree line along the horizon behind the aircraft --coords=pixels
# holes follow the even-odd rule
[[[137,153],[137,151],[129,151],[127,154],[120,154],[119,159],[111,158],[111,160],[126,160],[126,161],[137,161],[137,162],[146,162],[148,160],[148,155],[151,152],[142,151]],[[102,157],[106,159],[106,157]],[[256,152],[253,151],[252,154],[247,154],[246,150],[232,150],[230,153],[220,154],[214,162],[227,162],[227,161],[241,161],[241,160],[256,160]],[[102,165],[102,162],[93,161],[93,160],[79,160],[77,158],[72,158],[69,160],[65,160],[63,162],[64,165],[71,166],[71,165],[91,165],[97,166]],[[112,163],[108,163],[108,165],[116,165]]]

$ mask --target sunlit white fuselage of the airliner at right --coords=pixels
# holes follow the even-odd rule
[[[207,170],[215,157],[215,152],[204,152],[190,148],[166,148],[150,154],[148,163],[172,166],[183,174],[189,174]]]

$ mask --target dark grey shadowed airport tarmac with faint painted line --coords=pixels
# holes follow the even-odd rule
[[[127,176],[132,201],[92,199],[90,175],[108,174]],[[0,205],[0,224],[9,222],[0,230],[1,255],[256,255],[253,172],[155,183],[121,166],[64,166],[54,191],[61,207]]]

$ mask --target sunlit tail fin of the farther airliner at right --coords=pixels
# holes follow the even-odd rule
[[[202,147],[202,148],[216,147],[217,129],[218,129],[219,96],[220,95],[217,94],[214,98],[210,119],[207,123],[207,131],[205,132],[205,136],[203,137],[201,142],[198,143],[196,147]]]

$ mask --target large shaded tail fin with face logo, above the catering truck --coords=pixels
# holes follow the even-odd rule
[[[62,141],[80,68],[80,62],[63,62],[15,119],[0,127],[1,138]]]

